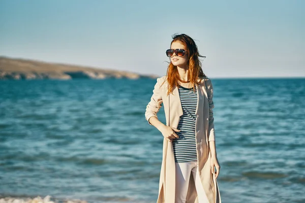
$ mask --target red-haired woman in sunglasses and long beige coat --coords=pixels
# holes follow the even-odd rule
[[[201,69],[197,46],[185,34],[173,36],[167,75],[157,78],[145,119],[163,135],[158,203],[221,202],[216,178],[213,86]],[[164,105],[166,125],[157,113]],[[215,171],[216,167],[216,171]]]

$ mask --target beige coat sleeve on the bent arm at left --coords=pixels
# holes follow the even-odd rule
[[[155,116],[158,118],[157,113],[159,112],[160,108],[162,107],[162,95],[160,91],[160,78],[157,78],[157,83],[153,90],[153,95],[150,98],[149,103],[146,106],[145,111],[145,119],[147,120],[149,125],[152,125],[149,123],[149,118],[152,116]]]

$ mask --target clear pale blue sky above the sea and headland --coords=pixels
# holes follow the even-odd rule
[[[305,1],[0,1],[0,55],[166,75],[174,33],[210,78],[305,77]]]

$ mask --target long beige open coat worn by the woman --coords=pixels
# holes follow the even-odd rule
[[[145,119],[151,116],[158,118],[157,113],[164,105],[166,125],[177,128],[180,116],[183,114],[179,98],[178,88],[167,95],[167,80],[161,86],[166,76],[157,78],[153,95],[146,106]],[[199,80],[199,79],[198,79]],[[205,84],[206,83],[206,84]],[[213,111],[213,86],[209,78],[204,77],[197,87],[197,109],[198,115],[195,125],[196,151],[198,169],[202,186],[209,200],[208,203],[221,203],[220,192],[215,177],[211,173],[209,141],[215,141]],[[206,89],[207,88],[207,89]],[[148,124],[151,125],[148,121]],[[192,176],[192,173],[191,173]],[[172,142],[163,140],[163,159],[161,164],[159,195],[157,203],[175,202],[175,160]],[[198,203],[197,192],[193,176],[190,178],[189,190],[186,203]]]

